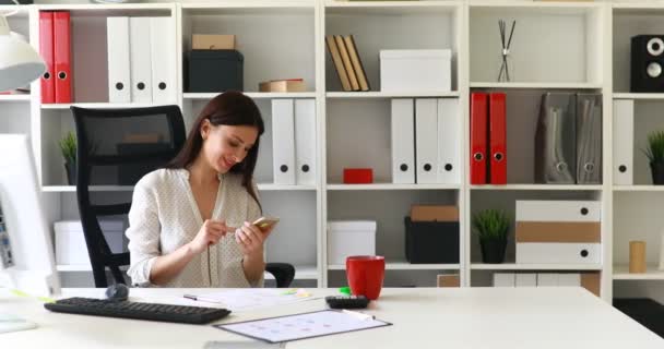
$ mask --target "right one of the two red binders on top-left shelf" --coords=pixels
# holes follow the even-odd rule
[[[54,12],[52,33],[56,68],[56,103],[71,103],[71,26],[69,12]]]

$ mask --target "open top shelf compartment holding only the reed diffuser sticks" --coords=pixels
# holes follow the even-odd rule
[[[502,61],[498,20],[507,19],[508,31],[511,21],[517,21],[510,48],[512,82],[509,84],[529,88],[540,84],[545,88],[600,88],[603,64],[598,62],[604,55],[604,43],[597,38],[604,37],[603,12],[598,4],[472,3],[471,81],[498,79]]]

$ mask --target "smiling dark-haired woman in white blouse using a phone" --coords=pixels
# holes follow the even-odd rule
[[[263,243],[253,169],[264,125],[251,98],[216,96],[181,152],[135,185],[128,275],[134,285],[262,287]]]

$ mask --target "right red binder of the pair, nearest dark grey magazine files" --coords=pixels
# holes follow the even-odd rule
[[[507,107],[503,93],[489,95],[489,148],[491,184],[507,184]]]

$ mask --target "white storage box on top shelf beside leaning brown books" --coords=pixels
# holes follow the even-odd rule
[[[449,92],[452,51],[381,50],[381,92]]]

